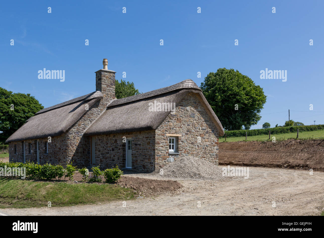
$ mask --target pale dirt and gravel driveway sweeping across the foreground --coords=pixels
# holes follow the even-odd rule
[[[324,172],[314,171],[310,175],[307,170],[249,167],[248,179],[179,182],[184,187],[177,194],[136,198],[124,204],[117,201],[72,207],[0,209],[0,212],[9,215],[319,215],[324,210]]]

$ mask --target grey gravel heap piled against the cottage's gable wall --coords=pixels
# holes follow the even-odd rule
[[[190,179],[221,179],[222,170],[209,161],[186,156],[177,158],[174,162],[167,164],[159,171],[154,172],[156,176],[169,178]]]

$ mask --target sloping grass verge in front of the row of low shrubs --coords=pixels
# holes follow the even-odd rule
[[[134,198],[130,188],[113,184],[68,184],[0,178],[0,208],[71,206]]]

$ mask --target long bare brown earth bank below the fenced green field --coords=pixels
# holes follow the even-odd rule
[[[324,171],[324,140],[223,142],[219,144],[219,164]]]

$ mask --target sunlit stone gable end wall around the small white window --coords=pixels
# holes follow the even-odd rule
[[[188,94],[156,129],[156,170],[181,156],[195,156],[218,165],[218,130],[202,105],[200,96]],[[179,154],[169,154],[170,136],[166,134],[181,134],[177,137]]]

